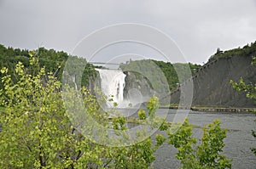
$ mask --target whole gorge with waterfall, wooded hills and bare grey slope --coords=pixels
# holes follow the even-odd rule
[[[34,68],[29,67],[31,52],[27,49],[6,48],[0,45],[0,66],[5,66],[10,72],[14,72],[15,64],[20,61],[27,70],[33,70]],[[65,52],[56,52],[54,49],[38,48],[37,54],[40,67],[45,67],[47,72],[56,72],[55,77],[59,80],[61,80],[64,66],[67,65],[67,59],[73,60],[73,65],[70,65],[70,72],[75,78],[71,81],[77,84],[77,88],[85,86],[90,88],[91,91],[95,89],[97,83],[96,76],[99,76],[99,70],[96,69],[101,69],[100,66],[91,65],[86,63],[85,59],[71,56]],[[211,56],[205,65],[189,63],[192,78],[189,78],[189,76],[177,77],[174,67],[176,66],[182,72],[183,64],[166,63],[150,59],[134,60],[131,63],[119,65],[120,70],[118,71],[122,71],[118,76],[119,82],[113,84],[113,87],[108,89],[108,91],[106,91],[107,88],[112,86],[108,82],[110,81],[108,76],[113,77],[110,72],[115,72],[115,70],[102,70],[101,76],[104,76],[104,73],[108,74],[101,77],[106,80],[106,86],[102,92],[106,92],[106,95],[115,95],[113,102],[119,102],[119,106],[121,100],[130,99],[130,101],[125,103],[125,106],[127,106],[131,101],[133,104],[145,102],[153,94],[158,94],[158,97],[162,97],[160,99],[161,104],[170,104],[170,100],[165,99],[163,94],[168,94],[167,97],[171,97],[171,104],[178,104],[180,98],[179,86],[185,86],[186,81],[193,81],[194,95],[192,106],[256,107],[252,100],[246,98],[245,92],[236,92],[230,84],[230,80],[237,82],[241,77],[245,82],[251,82],[252,84],[256,82],[256,68],[255,65],[251,65],[253,56],[256,56],[256,42],[252,42],[250,45],[247,44],[243,48],[235,48],[224,52],[218,51]],[[168,88],[162,85],[166,83],[165,78],[162,78],[164,76],[154,74],[152,73],[154,69],[149,69],[148,62],[150,61],[154,62],[155,67],[160,69],[158,72],[161,71],[166,77]],[[84,72],[78,72],[78,68],[84,65]],[[142,70],[142,67],[145,72],[143,76],[137,73]],[[81,74],[82,77],[79,77]],[[0,77],[2,76],[0,75]],[[11,78],[15,80],[13,73]],[[104,84],[102,84],[103,86]],[[2,82],[0,82],[0,87],[3,87]],[[131,98],[138,100],[131,100]]]

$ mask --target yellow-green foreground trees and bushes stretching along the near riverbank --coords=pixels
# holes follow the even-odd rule
[[[29,64],[38,68],[38,59],[32,56]],[[15,80],[10,73],[15,73]],[[183,168],[231,167],[230,160],[221,155],[226,130],[220,128],[220,121],[206,126],[201,144],[195,146],[196,139],[192,137],[188,120],[168,126],[164,120],[155,118],[159,99],[153,97],[148,100],[148,114],[141,113],[141,120],[149,127],[166,131],[167,137],[164,134],[146,137],[145,131],[139,130],[136,137],[141,141],[118,146],[131,139],[126,133],[125,118],[114,116],[110,122],[108,112],[102,110],[96,97],[82,87],[86,115],[123,137],[116,140],[116,146],[97,144],[96,140],[80,132],[82,127],[73,126],[61,99],[61,82],[53,73],[44,68],[27,70],[18,62],[14,72],[3,68],[1,75],[0,103],[4,107],[0,111],[1,168],[150,168],[154,152],[165,142],[177,148],[176,156]],[[47,82],[44,82],[45,76]],[[77,103],[77,100],[72,101],[72,105]],[[76,108],[74,106],[73,111]],[[94,131],[94,128],[86,129]],[[106,137],[106,133],[98,137]]]

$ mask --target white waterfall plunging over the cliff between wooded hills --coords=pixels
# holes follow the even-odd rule
[[[108,107],[113,107],[114,102],[118,104],[118,107],[123,107],[126,75],[121,70],[96,70],[100,73],[102,93],[108,96]]]

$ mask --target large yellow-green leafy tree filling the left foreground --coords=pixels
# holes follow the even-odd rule
[[[31,64],[36,64],[33,61]],[[1,71],[8,73],[7,69]],[[44,86],[44,68],[32,76],[21,63],[16,65],[15,73],[15,83],[8,74],[3,76],[0,167],[74,168],[93,161],[100,164],[100,152],[92,150],[97,145],[76,133],[67,118],[58,92],[61,82],[49,75]]]

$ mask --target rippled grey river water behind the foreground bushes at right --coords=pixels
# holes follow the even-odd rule
[[[158,113],[164,113],[166,110],[158,110]],[[172,121],[176,110],[169,110],[166,121]],[[194,128],[194,137],[200,141],[202,128],[205,124],[211,123],[214,119],[222,121],[221,127],[229,129],[227,138],[224,138],[224,152],[228,158],[233,159],[232,168],[256,168],[256,156],[250,150],[256,147],[256,139],[252,136],[252,129],[256,130],[256,116],[249,113],[218,113],[218,112],[195,112],[189,111],[189,122],[200,126]],[[180,166],[175,158],[177,149],[172,145],[163,144],[155,152],[154,168],[169,169]]]

